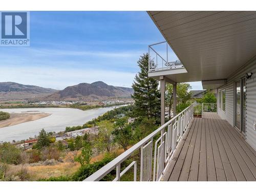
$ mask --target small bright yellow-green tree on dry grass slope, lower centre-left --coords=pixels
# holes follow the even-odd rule
[[[90,160],[92,158],[92,145],[89,142],[83,142],[83,147],[81,154],[75,156],[75,161],[79,162],[81,166],[84,166],[86,164],[90,163]]]

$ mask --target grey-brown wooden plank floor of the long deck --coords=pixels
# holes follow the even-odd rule
[[[163,181],[255,181],[256,152],[217,113],[194,118]]]

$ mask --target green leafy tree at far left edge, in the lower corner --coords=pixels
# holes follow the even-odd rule
[[[4,165],[4,178],[8,164],[18,164],[20,162],[20,150],[14,145],[4,142],[0,145],[0,162]]]

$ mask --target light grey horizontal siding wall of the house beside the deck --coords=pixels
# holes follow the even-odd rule
[[[234,126],[234,82],[245,77],[246,73],[252,72],[252,76],[246,79],[246,141],[256,150],[256,131],[253,123],[256,123],[256,59],[254,58],[236,73],[227,78],[225,86],[218,89],[226,92],[225,113],[220,109],[218,102],[218,114]],[[218,94],[217,94],[218,96]],[[217,98],[218,99],[218,98]]]

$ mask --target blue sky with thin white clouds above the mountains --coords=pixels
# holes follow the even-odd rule
[[[144,11],[30,12],[30,47],[0,47],[0,82],[131,87],[140,55],[163,40]],[[191,86],[202,89],[201,82]]]

